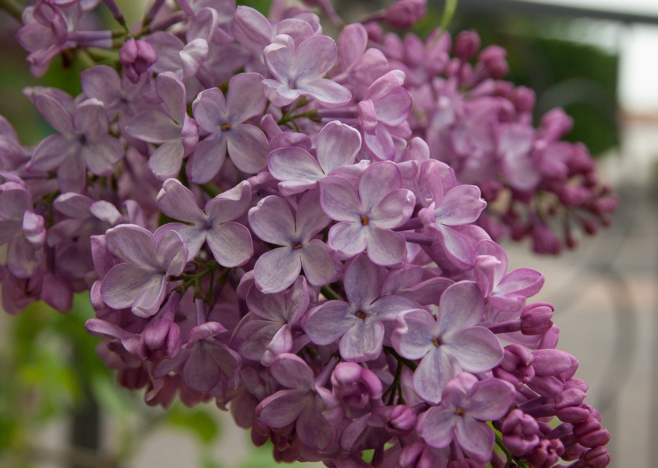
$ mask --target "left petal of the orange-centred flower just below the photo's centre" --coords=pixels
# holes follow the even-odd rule
[[[361,320],[354,316],[354,320],[347,320],[351,312],[348,310],[347,302],[330,300],[320,308],[315,309],[308,319],[303,323],[304,331],[315,344],[331,344]]]

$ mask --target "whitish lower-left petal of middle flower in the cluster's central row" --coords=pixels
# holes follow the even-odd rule
[[[256,285],[263,293],[278,293],[297,279],[301,260],[290,247],[275,248],[259,257],[253,271]]]

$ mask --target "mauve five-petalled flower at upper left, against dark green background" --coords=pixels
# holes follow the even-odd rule
[[[46,137],[34,150],[27,169],[35,172],[57,169],[57,183],[63,192],[81,193],[85,169],[109,175],[123,156],[123,145],[108,135],[105,107],[87,99],[69,114],[61,103],[46,94],[36,94],[34,105],[59,133]]]

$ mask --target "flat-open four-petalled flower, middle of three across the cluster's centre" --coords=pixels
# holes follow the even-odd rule
[[[301,268],[314,286],[336,279],[337,271],[327,246],[313,239],[329,223],[322,212],[317,191],[307,192],[293,219],[290,207],[271,195],[249,210],[249,225],[263,241],[282,245],[261,255],[254,266],[256,285],[264,293],[278,293],[289,287]]]

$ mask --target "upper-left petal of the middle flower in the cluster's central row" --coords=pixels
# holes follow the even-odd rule
[[[249,210],[249,225],[263,241],[276,245],[292,245],[295,232],[290,206],[281,197],[270,195]]]

